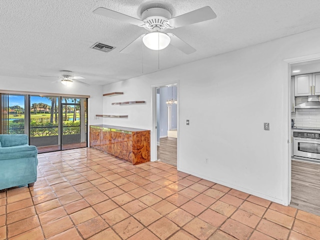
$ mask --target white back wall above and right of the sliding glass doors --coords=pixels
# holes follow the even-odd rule
[[[95,114],[102,113],[103,98],[101,86],[87,86],[79,83],[74,83],[72,84],[72,86],[66,87],[59,82],[50,83],[51,81],[52,80],[47,79],[39,80],[30,78],[1,76],[0,72],[0,91],[12,90],[26,92],[89,95],[90,98],[88,99],[88,125],[102,124],[102,119],[95,119]]]

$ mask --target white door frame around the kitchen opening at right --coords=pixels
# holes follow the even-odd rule
[[[285,114],[287,114],[287,161],[285,163],[287,167],[287,171],[285,176],[283,176],[283,179],[287,179],[287,189],[283,189],[283,194],[285,196],[283,199],[287,199],[287,202],[283,202],[285,205],[289,205],[291,202],[291,149],[292,149],[292,139],[291,139],[291,97],[292,97],[292,91],[291,91],[291,64],[292,63],[297,63],[297,62],[303,62],[303,61],[311,61],[311,60],[316,60],[320,59],[320,53],[316,54],[311,54],[311,55],[305,55],[305,56],[297,56],[293,58],[287,58],[284,59],[284,62],[287,64],[287,96],[288,96],[288,101],[287,101],[287,111],[284,111]],[[284,89],[285,90],[285,89]]]

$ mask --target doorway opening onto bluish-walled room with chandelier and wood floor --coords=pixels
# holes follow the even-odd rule
[[[156,160],[177,165],[177,86],[156,88]]]

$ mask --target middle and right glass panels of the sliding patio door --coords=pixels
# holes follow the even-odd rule
[[[30,145],[38,152],[86,147],[86,98],[30,95]]]

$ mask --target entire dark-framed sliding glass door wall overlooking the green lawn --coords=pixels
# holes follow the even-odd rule
[[[87,146],[87,98],[0,93],[0,134],[29,136],[38,152]]]

